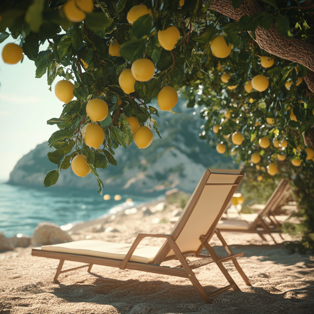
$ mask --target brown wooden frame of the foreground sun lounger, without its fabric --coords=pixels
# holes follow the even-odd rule
[[[217,173],[217,172],[215,172]],[[133,242],[132,246],[130,247],[127,255],[123,260],[117,260],[117,259],[111,259],[111,258],[104,258],[104,257],[94,257],[94,256],[88,256],[88,255],[80,255],[80,254],[70,254],[70,253],[60,253],[60,252],[51,252],[51,251],[44,251],[40,248],[34,248],[32,249],[32,255],[38,256],[38,257],[47,257],[47,258],[54,258],[59,259],[59,266],[57,268],[57,273],[54,277],[54,280],[57,281],[58,276],[61,273],[76,270],[79,268],[88,267],[88,271],[91,271],[91,268],[94,264],[97,265],[103,265],[103,266],[110,266],[110,267],[116,267],[120,269],[133,269],[133,270],[140,270],[144,272],[150,272],[150,273],[159,273],[163,275],[170,275],[170,276],[176,276],[176,277],[182,277],[187,278],[191,281],[194,288],[197,290],[199,295],[203,298],[203,300],[206,303],[212,303],[210,300],[210,297],[221,293],[222,291],[228,290],[230,288],[233,288],[234,290],[240,290],[238,285],[235,283],[235,281],[231,278],[230,274],[228,273],[227,269],[224,267],[223,263],[232,261],[235,268],[241,275],[242,279],[247,285],[251,285],[249,279],[246,277],[245,273],[243,272],[242,268],[240,267],[239,263],[237,262],[236,258],[243,256],[243,252],[239,252],[236,254],[233,254],[230,247],[227,245],[226,241],[224,240],[223,236],[221,235],[218,228],[216,228],[219,219],[221,218],[222,214],[225,211],[225,208],[227,204],[229,203],[230,199],[232,198],[233,194],[236,192],[236,189],[238,188],[239,184],[241,183],[241,180],[244,176],[243,171],[241,171],[240,174],[234,174],[234,173],[228,173],[228,175],[235,175],[237,176],[235,183],[209,183],[209,185],[232,185],[230,192],[225,199],[225,202],[220,209],[219,214],[217,215],[214,223],[210,226],[208,229],[208,232],[205,235],[199,236],[200,246],[198,247],[197,251],[193,252],[181,252],[179,247],[176,244],[176,239],[180,235],[181,230],[183,230],[185,224],[187,223],[187,220],[189,216],[192,214],[193,209],[195,208],[198,199],[200,198],[203,188],[208,185],[207,181],[210,176],[211,172],[209,170],[205,171],[205,174],[198,186],[198,189],[194,193],[191,202],[189,203],[187,209],[184,211],[184,216],[182,216],[181,221],[176,226],[176,229],[172,234],[162,234],[162,233],[140,233],[136,237],[135,241]],[[226,174],[226,173],[221,173]],[[208,241],[216,234],[221,241],[222,245],[224,246],[227,255],[226,256],[220,256],[217,255],[214,252],[214,249],[212,246],[209,245]],[[145,238],[145,237],[162,237],[166,239],[165,244],[161,247],[160,251],[157,253],[156,257],[153,259],[151,264],[146,263],[138,263],[138,262],[131,262],[130,258],[132,257],[133,252],[135,251],[138,244]],[[201,251],[203,248],[206,248],[206,250],[209,252],[209,254],[201,254]],[[174,252],[174,255],[168,256],[170,251]],[[198,257],[199,259],[196,261],[193,261],[191,263],[188,263],[186,260],[187,256],[192,257]],[[169,260],[178,260],[181,264],[176,267],[167,267],[167,266],[160,266],[160,264],[164,261]],[[70,268],[66,270],[62,270],[64,261],[73,261],[73,262],[80,262],[80,263],[87,263],[86,265]],[[216,263],[227,281],[229,282],[229,285],[217,289],[214,292],[207,294],[201,284],[199,283],[198,279],[196,278],[195,274],[193,273],[192,269],[199,268],[201,266],[207,265],[209,263]]]

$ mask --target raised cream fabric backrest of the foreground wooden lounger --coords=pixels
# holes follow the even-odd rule
[[[205,171],[171,231],[171,236],[182,253],[197,252],[201,246],[199,237],[216,228],[243,175],[240,170]],[[165,242],[153,262],[159,263],[161,257],[173,254],[169,244]]]

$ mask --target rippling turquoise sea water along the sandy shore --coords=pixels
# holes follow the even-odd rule
[[[115,206],[123,205],[127,198],[132,198],[134,205],[137,205],[159,196],[131,195],[123,191],[107,190],[106,193],[111,195],[109,201],[104,201],[94,190],[24,187],[0,183],[0,231],[7,237],[18,233],[32,235],[41,221],[58,225],[88,221],[107,214]],[[115,194],[122,196],[121,201],[113,199]]]

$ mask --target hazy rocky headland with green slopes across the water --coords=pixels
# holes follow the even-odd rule
[[[134,142],[127,149],[119,147],[114,156],[118,165],[97,171],[105,192],[125,189],[143,193],[174,187],[191,192],[206,168],[237,167],[230,158],[218,154],[199,139],[202,121],[192,114],[193,109],[180,105],[175,109],[184,114],[162,112],[164,119],[158,118],[162,139],[153,131],[153,143],[146,149],[138,149]],[[46,173],[56,169],[47,157],[51,150],[48,142],[37,145],[17,162],[8,183],[43,186]],[[56,186],[96,189],[97,182],[91,174],[85,178],[76,176],[70,167],[61,171]]]

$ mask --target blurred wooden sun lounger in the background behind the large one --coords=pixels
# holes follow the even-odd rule
[[[273,211],[277,208],[280,202],[289,197],[290,193],[291,187],[289,180],[282,179],[271,197],[268,199],[265,208],[259,212],[256,219],[252,223],[241,219],[224,219],[220,220],[218,223],[219,230],[257,233],[264,241],[267,240],[263,235],[269,234],[273,241],[277,243],[273,238],[272,233],[279,233],[279,236],[282,238],[279,229],[281,224],[275,218]],[[266,217],[268,217],[269,221],[265,220]]]

